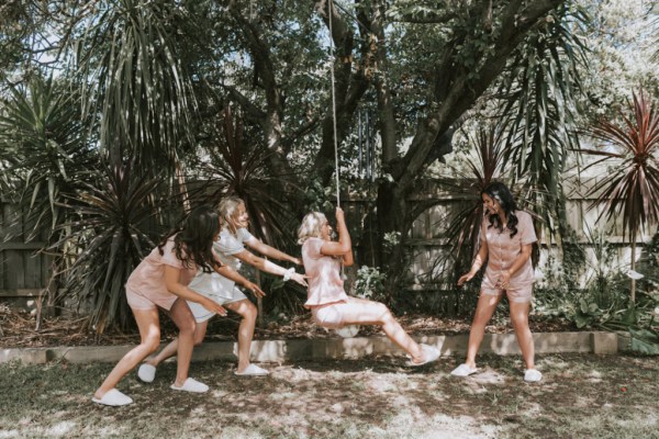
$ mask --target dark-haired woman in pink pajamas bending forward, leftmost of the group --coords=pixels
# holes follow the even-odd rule
[[[198,270],[214,270],[252,291],[261,292],[257,285],[220,263],[213,252],[213,241],[219,234],[217,212],[210,206],[197,207],[179,229],[167,235],[135,268],[126,282],[126,299],[137,322],[141,342],[129,351],[105,378],[93,395],[94,403],[118,406],[133,402],[115,386],[142,360],[158,349],[158,307],[169,313],[169,317],[179,329],[177,373],[171,389],[196,393],[209,390],[208,385],[188,376],[196,324],[187,301],[198,302],[221,315],[225,315],[226,309],[211,299],[190,290],[188,284]]]

